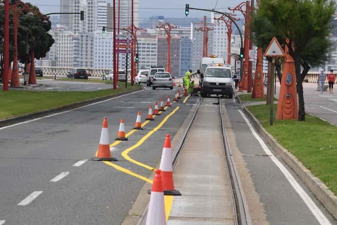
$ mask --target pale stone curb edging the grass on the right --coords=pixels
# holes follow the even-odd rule
[[[240,99],[236,95],[236,99],[241,104]],[[308,186],[315,194],[316,198],[324,205],[324,207],[337,219],[337,196],[329,190],[329,188],[310,170],[305,168],[303,164],[297,160],[287,149],[283,148],[272,135],[270,135],[255,118],[255,116],[246,107],[243,112],[248,116],[254,129],[268,142],[274,151],[292,168],[298,177]]]

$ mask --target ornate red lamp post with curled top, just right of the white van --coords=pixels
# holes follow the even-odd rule
[[[243,71],[242,71],[242,79],[241,79],[241,84],[239,83],[239,87],[242,87],[243,90],[248,90],[248,77],[249,77],[249,45],[250,45],[250,21],[251,21],[251,16],[250,16],[250,11],[251,11],[251,6],[249,4],[249,1],[246,2],[241,2],[239,5],[237,5],[235,8],[228,8],[229,10],[232,10],[233,13],[235,11],[240,11],[242,15],[245,18],[245,40],[244,40],[244,48],[245,48],[245,62],[243,64]],[[252,74],[250,74],[252,75]],[[251,82],[252,83],[252,82]],[[251,85],[252,87],[252,85]],[[251,92],[248,90],[248,92]]]

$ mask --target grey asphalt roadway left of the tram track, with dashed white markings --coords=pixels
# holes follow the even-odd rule
[[[5,225],[118,225],[145,183],[104,162],[88,160],[97,151],[103,117],[109,123],[110,143],[117,136],[120,119],[126,133],[132,130],[137,112],[142,122],[148,105],[174,90],[143,90],[102,103],[40,120],[0,128],[0,224]],[[157,127],[176,107],[164,125],[128,156],[151,167],[161,157],[166,134],[174,135],[196,97],[173,103],[136,131],[129,141],[112,149],[121,166],[147,178],[150,171],[127,161],[121,153]],[[83,161],[84,160],[84,161]],[[87,161],[85,161],[87,160]],[[5,221],[5,222],[3,222]]]

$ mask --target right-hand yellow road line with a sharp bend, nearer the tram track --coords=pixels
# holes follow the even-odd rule
[[[133,163],[135,163],[135,164],[137,164],[137,165],[139,165],[139,166],[142,166],[142,167],[147,168],[147,169],[149,169],[149,170],[154,170],[153,167],[148,166],[148,165],[146,165],[146,164],[144,164],[144,163],[141,163],[141,162],[139,162],[139,161],[136,161],[136,160],[130,158],[127,154],[128,154],[129,152],[131,152],[133,149],[135,149],[135,148],[139,147],[141,144],[143,144],[144,141],[145,141],[149,136],[151,136],[154,132],[158,131],[158,130],[164,125],[164,123],[166,123],[166,121],[169,119],[169,117],[170,117],[171,115],[173,115],[175,112],[177,112],[178,109],[179,109],[179,107],[176,107],[171,113],[169,113],[169,114],[163,119],[162,122],[160,122],[160,124],[159,124],[156,128],[154,128],[152,131],[150,131],[149,133],[147,133],[147,135],[145,135],[144,137],[142,137],[142,139],[140,139],[135,145],[131,146],[130,148],[128,148],[128,149],[126,149],[124,152],[122,152],[122,156],[123,156],[126,160],[128,160],[128,161],[130,161],[130,162],[133,162]]]

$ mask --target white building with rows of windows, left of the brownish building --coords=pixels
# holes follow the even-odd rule
[[[157,39],[155,36],[137,37],[139,50],[139,68],[148,69],[157,66]]]

